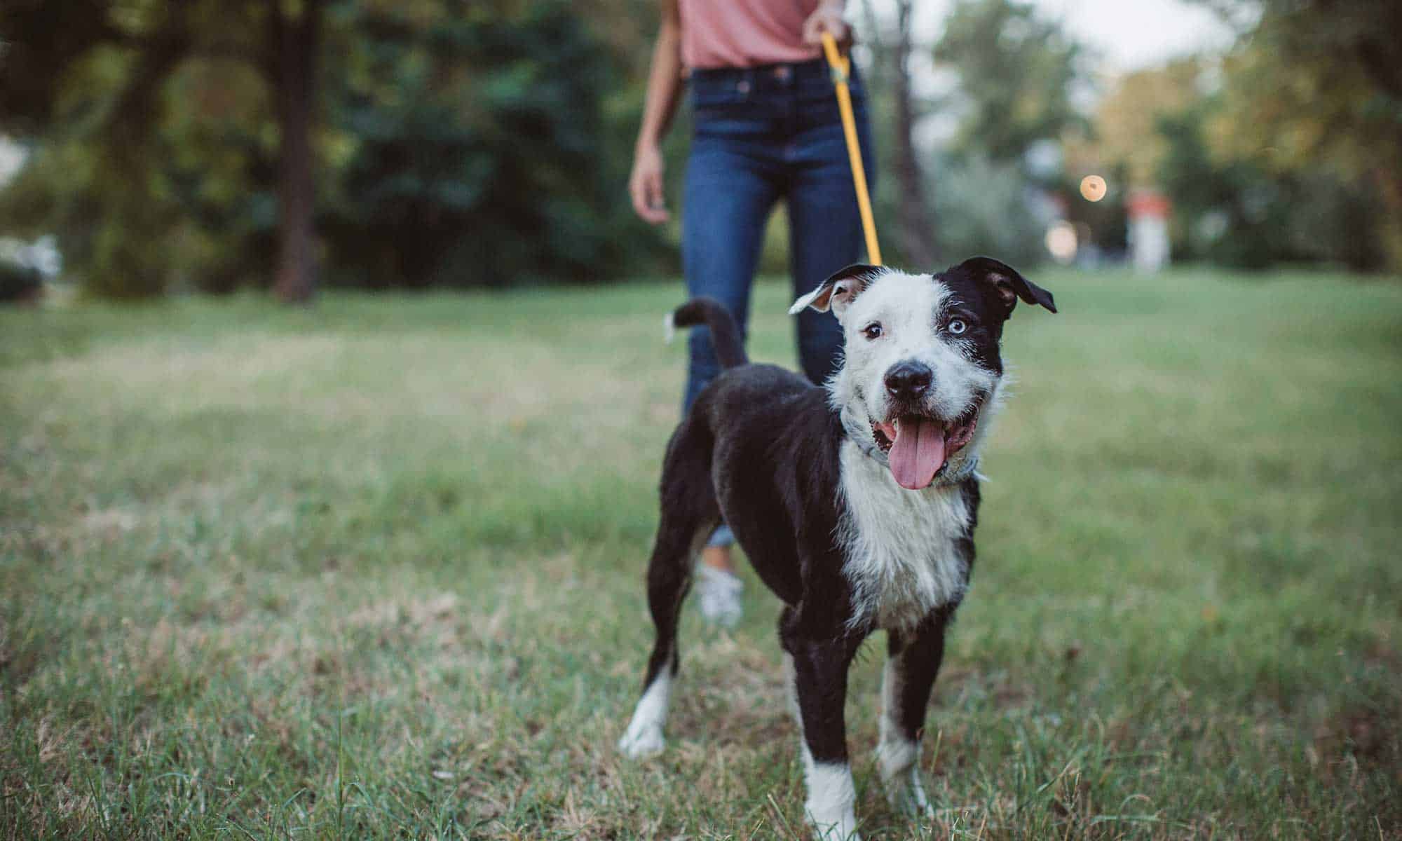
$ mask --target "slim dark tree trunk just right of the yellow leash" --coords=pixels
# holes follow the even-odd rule
[[[896,94],[896,178],[900,184],[900,251],[911,265],[934,271],[939,261],[935,242],[935,213],[928,184],[916,153],[916,105],[910,91],[911,0],[897,0],[893,76]]]

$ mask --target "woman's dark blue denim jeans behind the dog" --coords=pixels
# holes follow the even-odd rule
[[[788,202],[794,297],[857,262],[862,224],[827,63],[767,64],[691,73],[694,135],[681,210],[681,264],[691,297],[726,306],[746,334],[750,286],[774,203]],[[851,77],[857,135],[875,181],[866,97]],[[683,408],[719,371],[711,336],[693,329]],[[827,313],[798,315],[803,374],[823,383],[837,370],[843,331]],[[723,526],[712,545],[730,542]]]

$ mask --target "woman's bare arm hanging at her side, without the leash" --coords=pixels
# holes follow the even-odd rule
[[[644,220],[658,224],[667,220],[667,206],[662,196],[662,137],[672,125],[681,94],[681,17],[677,0],[662,0],[662,27],[652,48],[652,69],[648,71],[648,98],[642,108],[642,128],[632,154],[632,175],[628,195],[632,209]]]

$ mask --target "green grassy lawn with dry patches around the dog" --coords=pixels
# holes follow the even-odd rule
[[[1043,272],[923,765],[869,838],[1402,837],[1402,286]],[[774,634],[613,750],[674,283],[0,313],[0,837],[791,838]],[[754,356],[791,363],[780,285]]]

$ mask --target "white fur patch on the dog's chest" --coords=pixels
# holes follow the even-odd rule
[[[958,488],[906,491],[851,442],[841,450],[847,503],[840,540],[852,584],[854,621],[911,628],[963,596],[967,569],[958,541],[969,506]]]

